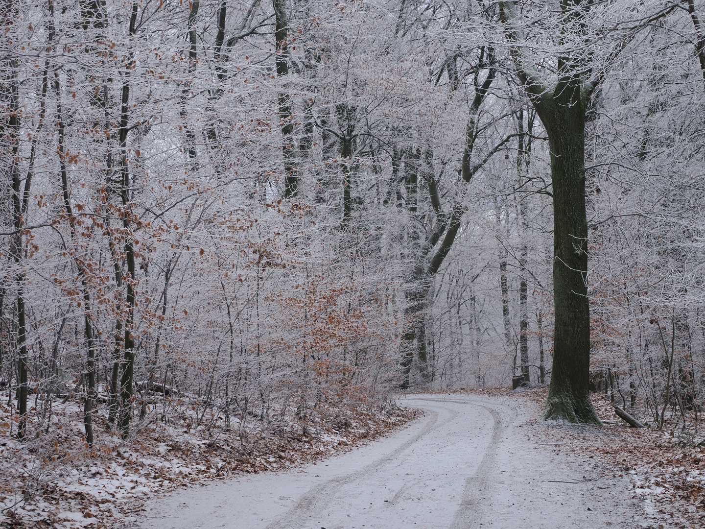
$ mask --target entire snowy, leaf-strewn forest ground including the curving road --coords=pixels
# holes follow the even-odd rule
[[[152,422],[131,442],[102,434],[92,452],[78,405],[55,406],[62,427],[51,431],[61,435],[24,444],[0,405],[0,527],[195,529],[214,517],[238,529],[461,528],[471,519],[508,529],[705,528],[699,437],[632,429],[599,396],[603,427],[544,422],[545,398],[546,389],[407,395],[406,409],[331,410],[278,434],[253,420],[245,439]]]

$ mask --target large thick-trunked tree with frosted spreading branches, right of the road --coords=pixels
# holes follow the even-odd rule
[[[541,15],[539,26],[555,36],[556,49],[539,64],[515,1],[501,2],[501,20],[517,77],[548,135],[553,197],[553,303],[555,329],[551,386],[544,419],[591,422],[599,419],[589,399],[590,307],[587,280],[585,124],[606,72],[634,37],[668,16],[675,5],[656,6],[631,18],[629,6],[597,8],[589,0],[559,0]],[[618,20],[607,23],[609,18]],[[597,28],[603,20],[603,28]],[[557,29],[556,29],[557,28]],[[599,51],[599,53],[596,53]]]

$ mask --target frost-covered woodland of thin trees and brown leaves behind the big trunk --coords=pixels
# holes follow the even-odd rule
[[[0,383],[20,437],[69,396],[92,443],[187,406],[229,430],[547,383],[550,152],[510,26],[544,78],[579,56],[597,86],[594,388],[697,424],[705,4],[516,9],[4,1]]]

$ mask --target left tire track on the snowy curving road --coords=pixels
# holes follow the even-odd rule
[[[443,401],[434,402],[441,404],[443,403]],[[450,416],[442,420],[441,422],[439,422],[438,412],[433,410],[427,410],[427,413],[429,413],[430,417],[427,420],[426,425],[414,437],[412,437],[411,439],[407,439],[396,449],[391,451],[389,454],[386,454],[386,456],[382,456],[381,458],[370,463],[369,465],[364,466],[360,470],[357,470],[357,472],[355,473],[352,473],[347,476],[341,476],[340,478],[333,478],[332,480],[328,480],[324,483],[321,483],[321,485],[317,485],[315,487],[310,488],[307,492],[305,492],[305,494],[302,495],[302,497],[300,497],[295,506],[289,509],[289,511],[287,511],[287,513],[278,521],[267,525],[266,529],[298,529],[310,520],[312,513],[319,513],[320,511],[325,509],[326,506],[330,503],[331,499],[333,499],[333,497],[335,496],[336,491],[339,490],[341,487],[343,487],[344,485],[348,485],[348,483],[360,480],[364,477],[364,475],[372,473],[374,472],[374,470],[377,470],[385,466],[386,464],[391,463],[400,454],[402,454],[405,450],[412,446],[412,444],[418,442],[419,439],[422,439],[425,435],[429,434],[431,430],[446,425],[448,422],[458,416],[457,411],[450,410],[448,408],[446,408],[446,410],[450,412]]]

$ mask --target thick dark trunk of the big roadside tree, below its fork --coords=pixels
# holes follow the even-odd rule
[[[585,113],[580,83],[559,83],[536,104],[548,133],[553,183],[553,368],[544,419],[600,421],[588,393],[590,308],[587,298]]]

